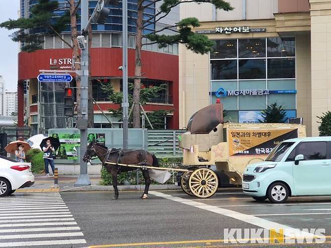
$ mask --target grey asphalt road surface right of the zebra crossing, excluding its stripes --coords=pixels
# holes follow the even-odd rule
[[[309,228],[308,232],[312,232],[310,228],[324,228],[324,244],[287,246],[331,246],[331,197],[290,198],[285,204],[275,205],[256,202],[239,190],[219,191],[208,199],[190,197],[182,191],[150,192],[147,200],[139,199],[140,192],[120,192],[118,200],[111,199],[112,192],[61,195],[93,248],[272,247],[224,244],[224,228]]]

